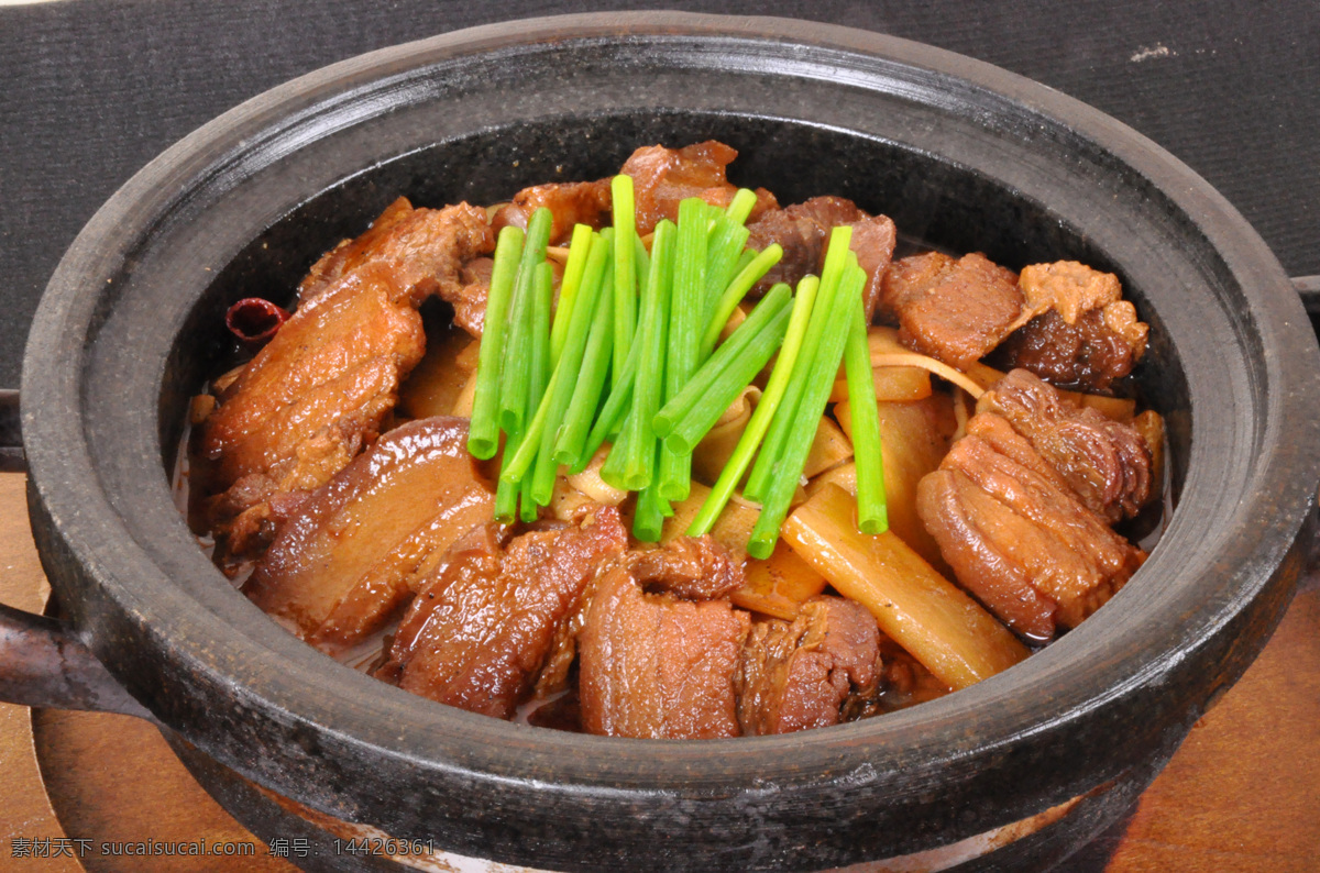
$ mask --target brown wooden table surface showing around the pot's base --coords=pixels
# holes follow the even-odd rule
[[[21,475],[0,475],[0,603],[41,609],[49,588],[22,488]],[[220,810],[145,721],[0,704],[0,765],[3,870],[293,869]],[[100,851],[203,839],[252,843],[256,855]],[[42,840],[46,855],[86,851],[81,860],[15,856],[41,852]],[[1261,658],[1193,727],[1127,822],[1084,856],[1088,870],[1105,873],[1320,869],[1320,574],[1307,576]]]

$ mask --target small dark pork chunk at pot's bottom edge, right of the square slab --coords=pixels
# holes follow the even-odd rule
[[[743,733],[825,728],[863,711],[879,694],[879,637],[865,607],[830,596],[804,603],[793,621],[754,624],[739,670]]]

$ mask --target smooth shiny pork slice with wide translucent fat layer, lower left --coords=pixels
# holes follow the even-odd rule
[[[409,422],[302,502],[244,591],[334,654],[393,616],[492,506],[467,454],[467,419]]]

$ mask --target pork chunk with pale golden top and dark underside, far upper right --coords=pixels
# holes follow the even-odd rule
[[[1109,390],[1146,351],[1148,327],[1121,299],[1118,277],[1076,261],[1023,268],[1026,297],[1018,327],[995,352],[1005,368],[1023,367],[1053,385]]]

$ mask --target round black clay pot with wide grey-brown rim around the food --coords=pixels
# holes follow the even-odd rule
[[[1151,348],[1177,508],[1077,630],[970,690],[777,738],[506,724],[339,666],[211,567],[170,496],[224,309],[284,301],[407,194],[597,178],[717,137],[781,202],[838,194],[927,243],[1117,272]],[[33,526],[77,634],[202,753],[317,810],[573,870],[818,869],[948,844],[1158,769],[1257,654],[1309,535],[1320,355],[1292,285],[1205,182],[1111,119],[945,51],[671,13],[513,22],[256,98],[125,185],[65,256],[22,381]]]

